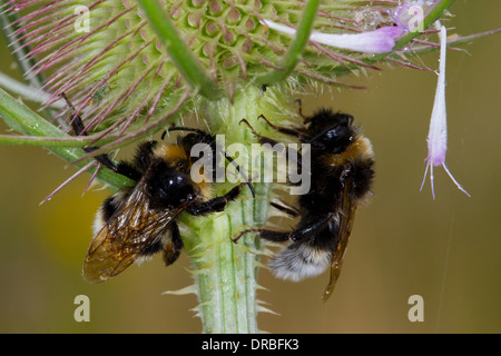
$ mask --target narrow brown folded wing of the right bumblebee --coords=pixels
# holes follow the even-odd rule
[[[340,277],[341,267],[343,266],[343,258],[346,253],[350,235],[352,234],[353,221],[355,219],[356,202],[353,199],[353,181],[352,175],[343,180],[343,189],[341,191],[341,211],[340,211],[340,233],[338,243],[331,259],[331,279],[325,288],[323,299],[324,301],[331,297],[337,278]]]

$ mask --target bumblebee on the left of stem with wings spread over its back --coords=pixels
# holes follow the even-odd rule
[[[76,135],[81,135],[81,118],[66,96],[61,96],[71,109],[70,119]],[[170,127],[167,131],[175,130],[190,134],[179,136],[177,142],[171,145],[143,142],[129,162],[115,165],[107,155],[95,157],[107,168],[132,179],[135,185],[106,199],[96,216],[95,238],[84,261],[84,278],[87,281],[110,279],[132,263],[159,251],[163,251],[164,261],[169,266],[184,247],[176,222],[181,212],[203,216],[223,211],[229,201],[238,197],[243,185],[248,185],[254,196],[252,184],[235,161],[217,147],[214,136],[186,127]],[[213,161],[204,167],[214,168],[203,171],[207,179],[197,179],[199,182],[195,182],[190,175],[194,162],[200,159],[191,157],[191,148],[197,144],[208,145],[212,151],[208,159]],[[96,149],[85,148],[88,152]],[[236,167],[246,182],[235,186],[224,196],[210,198],[219,152]]]

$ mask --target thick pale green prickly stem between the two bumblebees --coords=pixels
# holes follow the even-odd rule
[[[238,92],[233,103],[227,99],[206,101],[202,105],[205,117],[215,135],[224,135],[226,151],[253,178],[256,197],[249,189],[242,190],[242,197],[232,201],[223,212],[207,218],[184,217],[188,229],[183,239],[186,251],[193,260],[198,312],[204,333],[257,333],[257,313],[263,310],[256,299],[258,290],[257,270],[262,254],[262,241],[253,235],[245,235],[237,244],[230,239],[248,227],[264,226],[268,217],[272,182],[256,176],[257,160],[252,155],[256,138],[242,119],[247,119],[256,129],[263,129],[257,117],[273,117],[275,122],[291,119],[294,113],[293,95],[286,86],[268,89],[266,96],[256,87]],[[261,120],[262,121],[262,120]],[[268,135],[268,134],[266,134]],[[268,136],[273,137],[273,132]],[[232,148],[238,149],[233,151]],[[262,171],[261,171],[262,172]],[[229,175],[226,175],[226,180]],[[216,185],[215,196],[220,196],[238,182]]]

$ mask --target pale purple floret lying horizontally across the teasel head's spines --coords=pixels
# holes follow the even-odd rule
[[[263,20],[264,24],[276,31],[294,36],[296,30],[287,26],[278,24],[269,20]],[[310,40],[352,51],[366,53],[390,52],[395,46],[395,38],[403,33],[401,26],[382,27],[374,31],[361,33],[321,33],[312,32]]]

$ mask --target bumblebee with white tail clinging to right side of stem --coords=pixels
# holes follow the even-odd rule
[[[275,243],[289,243],[268,266],[278,278],[298,281],[317,276],[328,267],[331,277],[324,291],[326,300],[334,290],[352,231],[355,210],[371,195],[374,154],[350,115],[328,108],[316,110],[312,117],[303,116],[303,127],[275,126],[264,116],[267,125],[277,132],[293,136],[311,148],[310,191],[297,199],[296,208],[275,208],[288,215],[299,216],[297,225],[287,231],[268,228],[250,228],[234,238],[256,233],[259,238]],[[244,119],[261,144],[277,141],[258,135]],[[297,152],[302,159],[301,152]]]

